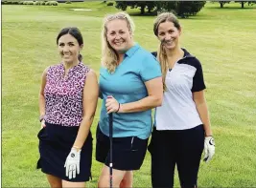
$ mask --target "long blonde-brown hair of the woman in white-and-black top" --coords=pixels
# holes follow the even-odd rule
[[[164,22],[172,22],[175,25],[175,28],[180,31],[180,25],[178,22],[177,17],[175,16],[174,13],[172,12],[163,12],[159,15],[157,15],[156,19],[154,20],[153,23],[153,33],[155,36],[158,37],[158,28],[161,23]],[[165,78],[166,78],[166,73],[168,72],[169,69],[169,63],[167,59],[167,53],[162,45],[162,43],[159,45],[158,50],[157,50],[157,60],[160,62],[161,66],[161,71],[162,71],[162,76],[163,76],[163,87],[164,91],[166,91],[166,84],[165,84]]]

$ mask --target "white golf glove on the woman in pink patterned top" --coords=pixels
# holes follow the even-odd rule
[[[77,151],[76,148],[72,148],[64,167],[66,168],[66,177],[76,178],[76,174],[80,174],[80,153],[81,150]]]

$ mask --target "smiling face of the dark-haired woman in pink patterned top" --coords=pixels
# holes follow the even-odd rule
[[[64,34],[58,39],[58,52],[63,63],[76,63],[81,49],[82,45],[71,34]]]

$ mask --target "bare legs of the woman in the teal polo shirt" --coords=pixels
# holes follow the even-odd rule
[[[113,169],[112,185],[113,187],[119,187],[122,179],[125,177],[127,171],[120,171]],[[104,166],[102,174],[98,181],[98,188],[109,187],[109,167]]]

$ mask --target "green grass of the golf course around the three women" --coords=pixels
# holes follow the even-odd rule
[[[180,20],[182,46],[203,66],[216,139],[216,156],[208,164],[201,162],[198,185],[256,187],[256,7],[219,7],[208,3],[197,16]],[[48,186],[45,176],[35,170],[41,73],[58,63],[56,37],[66,26],[81,29],[84,63],[99,73],[103,16],[115,11],[101,2],[2,7],[2,187]],[[137,26],[135,40],[149,51],[156,50],[154,17],[137,16],[139,10],[128,12]],[[101,101],[92,126],[94,137],[100,107]],[[141,170],[135,172],[134,187],[151,186],[150,159],[147,154]],[[87,187],[97,186],[101,167],[93,159],[93,180]]]

